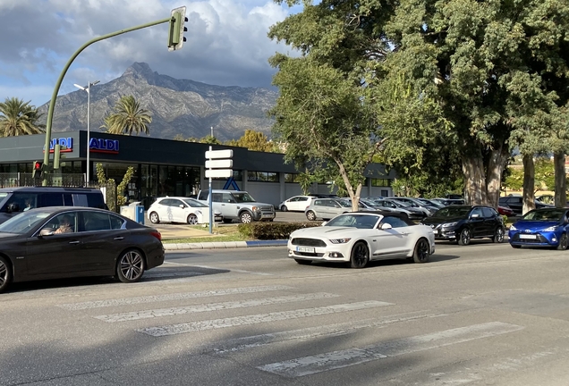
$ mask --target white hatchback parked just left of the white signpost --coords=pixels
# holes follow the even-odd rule
[[[149,220],[158,222],[187,222],[191,225],[209,222],[209,207],[189,197],[160,197],[149,207]],[[221,221],[214,212],[214,221]]]

